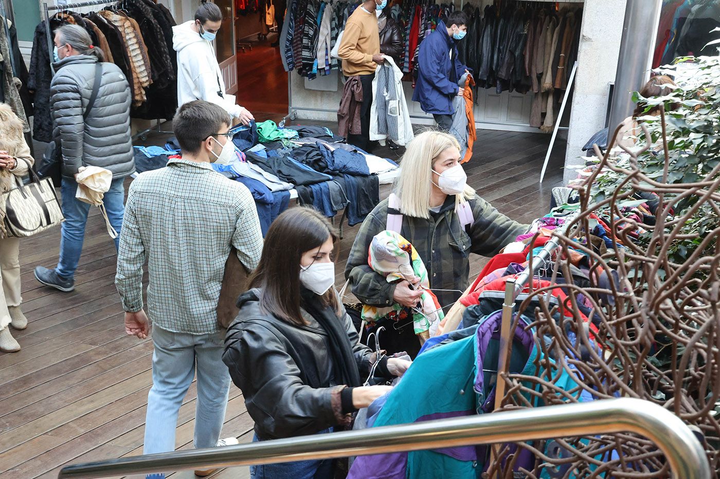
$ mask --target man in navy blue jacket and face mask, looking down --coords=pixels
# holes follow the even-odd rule
[[[438,22],[435,31],[420,43],[413,101],[418,101],[423,111],[431,113],[445,130],[452,125],[452,99],[463,94],[457,82],[467,67],[457,58],[456,41],[465,36],[466,24],[467,17],[462,11],[451,12],[445,22]]]

